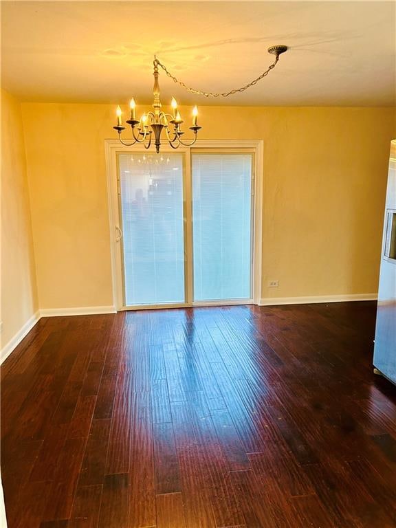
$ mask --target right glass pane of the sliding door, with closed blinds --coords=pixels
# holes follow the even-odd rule
[[[192,155],[195,300],[250,298],[252,155]]]

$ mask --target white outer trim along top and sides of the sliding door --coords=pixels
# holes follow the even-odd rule
[[[175,152],[170,146],[161,146],[162,152]],[[180,147],[177,150],[184,152],[187,157],[195,148],[254,148],[254,270],[253,270],[253,302],[260,303],[261,296],[261,267],[262,267],[262,241],[263,241],[263,140],[197,140],[191,147]],[[118,139],[104,140],[107,168],[107,200],[109,204],[110,250],[111,250],[111,277],[113,291],[113,305],[118,310],[131,309],[124,307],[122,285],[122,252],[121,245],[116,240],[115,230],[120,226],[120,213],[117,188],[117,162],[118,152],[141,150],[142,146],[124,146]],[[195,303],[192,303],[195,304]],[[190,306],[189,304],[184,305]]]

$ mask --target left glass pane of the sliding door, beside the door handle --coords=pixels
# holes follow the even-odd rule
[[[183,303],[183,155],[118,160],[126,305]]]

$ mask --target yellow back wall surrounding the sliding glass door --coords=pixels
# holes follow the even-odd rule
[[[22,109],[40,305],[111,305],[114,107]],[[202,107],[200,124],[203,139],[264,141],[263,298],[377,292],[395,109]]]

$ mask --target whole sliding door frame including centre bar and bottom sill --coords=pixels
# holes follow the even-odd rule
[[[262,248],[263,248],[263,140],[197,140],[193,146],[177,148],[177,151],[186,155],[186,173],[191,175],[191,153],[195,149],[205,148],[210,149],[254,149],[254,165],[252,166],[252,192],[253,199],[253,247],[252,247],[252,300],[249,303],[258,305],[261,299],[261,274],[262,274]],[[161,147],[162,153],[173,152],[175,149]],[[124,306],[124,285],[122,276],[122,244],[120,243],[120,209],[119,209],[119,195],[118,195],[118,153],[142,151],[142,146],[139,144],[134,146],[124,146],[118,139],[104,140],[104,152],[106,156],[106,172],[107,172],[107,201],[109,208],[109,230],[110,230],[110,254],[111,254],[111,283],[113,292],[113,305],[117,311],[131,310],[131,309],[155,309],[155,308],[173,308],[181,307],[181,305],[150,305],[140,307],[125,307]],[[190,177],[184,178],[186,184],[190,186]],[[192,203],[187,203],[184,197],[184,214],[186,208],[191,209]],[[186,230],[191,230],[192,225],[186,225],[184,230],[184,240],[186,241]],[[187,284],[192,284],[192,236],[188,236],[190,244],[185,244],[185,260],[186,265],[186,280]],[[240,300],[223,300],[223,301],[203,301],[192,303],[192,292],[188,292],[186,303],[182,307],[191,306],[226,306],[226,305],[241,305]],[[187,302],[188,301],[188,302]]]

